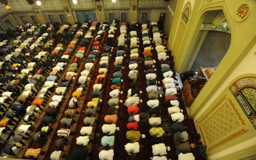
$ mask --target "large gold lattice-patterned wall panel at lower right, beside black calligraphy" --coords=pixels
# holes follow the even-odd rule
[[[226,94],[199,119],[201,137],[208,151],[211,151],[240,135],[247,133],[245,120]]]

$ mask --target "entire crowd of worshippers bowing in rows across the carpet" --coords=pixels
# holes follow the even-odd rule
[[[104,51],[101,54],[101,61],[99,75],[93,85],[93,91],[91,93],[93,99],[87,101],[88,109],[84,110],[87,115],[84,118],[83,123],[84,127],[81,128],[81,135],[78,137],[77,144],[86,146],[88,143],[92,143],[92,139],[89,139],[89,135],[92,132],[95,132],[94,123],[99,123],[99,120],[95,119],[95,115],[100,112],[101,106],[101,96],[104,94],[104,84],[105,77],[109,73],[109,57],[111,56],[111,51],[113,50],[113,43],[115,42],[115,27],[116,20],[111,24],[107,25],[108,22],[104,21],[102,23],[98,22],[85,22],[80,24],[79,22],[75,25],[60,25],[60,23],[46,23],[45,25],[23,25],[17,27],[15,31],[12,31],[11,38],[16,38],[13,41],[14,45],[8,45],[9,40],[4,40],[0,43],[1,45],[1,62],[0,62],[0,85],[1,85],[1,97],[0,111],[3,113],[1,115],[0,121],[0,130],[3,134],[10,134],[11,140],[18,142],[21,145],[25,145],[22,139],[27,140],[32,138],[33,141],[39,143],[40,145],[45,145],[48,141],[47,135],[52,131],[53,123],[56,123],[55,117],[59,113],[59,109],[62,104],[67,101],[65,99],[65,94],[69,92],[72,81],[75,79],[74,76],[77,76],[78,69],[81,67],[81,59],[85,58],[85,53],[87,53],[88,44],[90,41],[93,41],[92,51],[87,55],[85,60],[85,70],[81,72],[81,76],[78,78],[80,87],[72,93],[72,99],[68,102],[70,109],[64,111],[64,114],[67,118],[62,118],[60,124],[64,128],[57,131],[57,135],[60,139],[54,142],[54,146],[57,148],[57,151],[51,154],[51,159],[60,159],[60,157],[65,158],[66,154],[64,153],[63,146],[67,145],[68,137],[74,135],[74,132],[71,131],[70,126],[74,123],[77,123],[73,120],[73,117],[78,115],[79,112],[76,109],[79,106],[79,101],[84,92],[87,89],[87,82],[90,81],[90,76],[93,72],[96,58],[99,56],[99,51],[101,50],[101,40],[105,30],[109,29],[109,35],[107,38],[106,46]],[[168,58],[166,54],[165,47],[161,44],[161,34],[157,27],[157,24],[152,23],[152,32],[153,32],[153,43],[155,43],[155,50],[157,51],[158,61],[161,65],[161,72],[165,89],[165,103],[168,106],[168,117],[172,121],[172,132],[174,134],[175,144],[177,145],[177,153],[179,160],[190,160],[192,159],[189,152],[191,148],[187,146],[188,143],[188,134],[184,132],[185,126],[181,123],[186,116],[183,115],[183,110],[179,109],[179,101],[175,94],[179,93],[177,81],[175,81],[171,76],[173,72],[169,66]],[[139,99],[138,94],[142,93],[139,91],[140,84],[137,83],[137,79],[140,76],[140,72],[137,70],[139,67],[138,59],[139,57],[139,38],[137,37],[137,22],[133,22],[129,28],[129,33],[131,35],[130,43],[130,62],[128,74],[129,80],[129,90],[127,100],[124,105],[128,107],[129,122],[127,124],[127,139],[129,143],[123,145],[119,143],[119,149],[125,148],[129,155],[139,152],[140,149],[143,149],[144,146],[139,144],[140,138],[146,138],[145,135],[141,134],[137,129],[143,127],[141,123],[138,123],[140,120],[143,120],[143,117],[139,116],[138,104],[142,102]],[[92,40],[92,35],[94,30],[99,27],[99,32],[94,40]],[[21,28],[21,29],[20,29]],[[89,30],[88,30],[89,29]],[[21,30],[21,32],[19,32]],[[111,85],[112,91],[110,92],[111,99],[108,101],[110,105],[109,113],[106,115],[104,120],[106,123],[102,126],[102,132],[106,134],[101,139],[101,143],[105,146],[105,150],[99,153],[99,158],[101,160],[111,159],[113,156],[118,157],[119,154],[114,152],[113,149],[110,149],[114,143],[118,143],[119,140],[115,139],[113,134],[116,130],[119,130],[119,127],[116,126],[117,120],[121,120],[115,112],[119,108],[119,103],[122,103],[122,100],[119,100],[119,94],[122,94],[121,82],[123,82],[122,77],[122,63],[125,60],[125,50],[128,48],[126,43],[127,37],[127,22],[123,22],[120,27],[120,35],[118,39],[117,52],[115,53],[115,62],[113,79]],[[158,108],[161,101],[158,101],[159,97],[162,95],[157,93],[157,90],[160,88],[157,87],[157,82],[155,78],[157,77],[154,73],[156,69],[154,68],[155,59],[152,59],[153,49],[151,46],[151,38],[149,38],[149,28],[146,22],[142,24],[142,41],[144,46],[144,59],[145,59],[145,68],[144,75],[146,75],[146,96],[148,97],[147,105],[151,108],[148,109],[149,115],[149,124],[153,127],[149,130],[150,135],[153,136],[152,141],[152,150],[154,157],[153,160],[167,160],[164,154],[170,151],[170,147],[166,147],[163,142],[165,139],[161,138],[163,135],[167,135],[168,131],[164,131],[161,127],[156,127],[161,124],[161,118],[158,116],[163,109]],[[16,32],[17,31],[17,32]],[[24,31],[26,34],[23,34]],[[31,31],[31,32],[30,32]],[[75,32],[74,32],[75,31]],[[29,33],[28,33],[29,32]],[[38,33],[37,33],[38,32]],[[8,34],[8,33],[6,33]],[[9,34],[6,35],[9,37]],[[15,37],[13,37],[15,36]],[[82,40],[82,37],[84,39]],[[77,44],[82,43],[79,46],[79,51],[74,52],[77,49]],[[8,50],[7,50],[8,49]],[[72,59],[71,65],[67,66],[70,62],[70,58],[75,54],[75,58]],[[59,79],[60,76],[67,70],[64,78]],[[58,85],[57,82],[61,81],[61,84]],[[22,91],[22,89],[25,89]],[[52,101],[47,106],[45,110],[46,116],[40,121],[41,131],[37,132],[32,137],[28,134],[29,131],[34,131],[33,123],[37,120],[35,113],[40,113],[43,108],[46,106],[46,102],[51,95],[55,93],[52,97]],[[38,97],[38,98],[37,98]],[[18,120],[16,120],[18,119]],[[20,120],[23,120],[27,125],[19,125]],[[18,126],[18,132],[14,132],[15,129],[10,129],[9,126]],[[16,128],[16,127],[14,127]],[[27,135],[21,135],[23,133]],[[96,134],[97,135],[97,134]],[[18,157],[14,151],[18,149],[16,144],[8,144],[9,141],[4,139],[1,140],[2,145],[6,145],[3,152],[11,156]],[[181,143],[184,142],[184,143]],[[186,144],[186,145],[185,145]],[[188,143],[189,144],[189,143]],[[180,146],[180,147],[179,147]],[[190,146],[190,144],[189,144]],[[192,145],[193,146],[193,145]],[[183,154],[185,153],[185,154]],[[42,151],[41,148],[38,149],[27,149],[25,154],[26,157],[37,159],[39,155],[44,155],[45,151]],[[79,155],[79,156],[78,156]],[[90,157],[91,153],[87,149],[76,148],[71,153],[71,158],[73,160],[84,160],[86,157]],[[190,159],[189,159],[190,158]],[[133,158],[129,157],[128,160],[139,160],[139,157]]]

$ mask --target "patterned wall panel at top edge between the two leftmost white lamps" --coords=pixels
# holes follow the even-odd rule
[[[36,0],[34,0],[36,2]],[[41,9],[63,9],[61,0],[41,0]]]

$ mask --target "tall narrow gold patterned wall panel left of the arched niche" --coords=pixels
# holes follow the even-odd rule
[[[174,48],[173,48],[173,53],[174,53],[175,59],[177,58],[177,55],[179,53],[185,30],[186,30],[186,26],[183,24],[182,21],[180,21],[179,29],[178,29],[177,35],[175,37]]]

